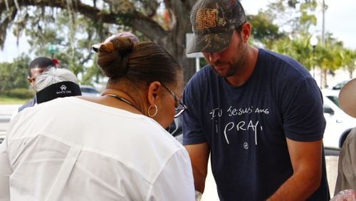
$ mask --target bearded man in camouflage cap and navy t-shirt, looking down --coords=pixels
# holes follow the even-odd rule
[[[183,94],[197,197],[210,156],[220,200],[330,200],[314,78],[293,58],[249,46],[237,0],[198,0],[191,23],[187,53],[208,63]]]

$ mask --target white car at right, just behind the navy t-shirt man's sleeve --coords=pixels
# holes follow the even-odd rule
[[[356,126],[356,118],[344,113],[339,105],[339,91],[323,90],[326,128],[323,143],[326,148],[341,148],[350,130]]]

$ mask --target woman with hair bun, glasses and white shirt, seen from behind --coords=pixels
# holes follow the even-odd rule
[[[100,97],[57,98],[11,120],[0,200],[195,200],[189,155],[164,128],[182,114],[182,68],[161,46],[100,43]]]

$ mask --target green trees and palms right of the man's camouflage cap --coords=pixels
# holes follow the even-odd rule
[[[321,36],[318,36],[319,44],[315,51],[310,45],[310,26],[316,25],[315,11],[318,6],[322,5],[318,5],[314,0],[277,0],[270,4],[266,11],[260,11],[257,16],[251,18],[252,27],[257,28],[252,31],[255,39],[253,42],[263,43],[266,48],[295,58],[308,70],[316,67],[327,72],[346,68],[352,77],[356,65],[356,51],[344,48],[342,42],[333,38],[332,33],[325,34],[325,43],[322,43]],[[279,26],[274,27],[274,23]],[[286,25],[288,29],[285,28]],[[268,35],[276,38],[268,38]]]

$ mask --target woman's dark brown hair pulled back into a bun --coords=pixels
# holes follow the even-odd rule
[[[111,81],[125,78],[132,84],[174,83],[182,69],[177,61],[157,43],[133,43],[130,38],[115,37],[102,43],[98,66]]]

